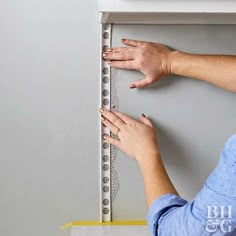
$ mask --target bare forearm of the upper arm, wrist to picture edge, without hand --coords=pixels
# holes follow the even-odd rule
[[[171,74],[204,80],[236,92],[236,56],[173,52]]]

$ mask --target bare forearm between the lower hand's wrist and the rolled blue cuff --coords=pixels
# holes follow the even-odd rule
[[[140,158],[137,159],[137,161],[143,175],[148,207],[150,207],[151,203],[161,195],[167,193],[178,195],[166,172],[160,154],[151,157],[149,156],[148,158]]]

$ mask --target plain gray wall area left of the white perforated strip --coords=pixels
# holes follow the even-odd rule
[[[98,106],[98,1],[0,0],[0,235],[99,219]]]

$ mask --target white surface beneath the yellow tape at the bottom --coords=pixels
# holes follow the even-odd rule
[[[150,236],[148,226],[75,226],[70,236]]]

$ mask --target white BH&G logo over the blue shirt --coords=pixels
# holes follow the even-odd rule
[[[218,229],[224,233],[232,231],[232,206],[207,206],[206,231],[214,233]]]

